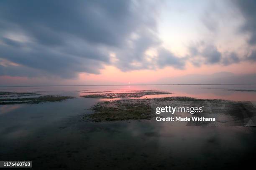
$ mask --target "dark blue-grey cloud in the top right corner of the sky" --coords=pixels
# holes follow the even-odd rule
[[[250,35],[250,38],[248,39],[250,45],[256,45],[256,1],[235,0],[232,2],[236,4],[245,19],[240,31]]]

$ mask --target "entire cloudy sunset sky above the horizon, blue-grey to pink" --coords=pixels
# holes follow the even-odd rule
[[[256,83],[255,9],[255,0],[1,0],[0,85]]]

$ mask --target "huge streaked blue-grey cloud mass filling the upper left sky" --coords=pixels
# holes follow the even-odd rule
[[[132,0],[2,0],[0,58],[20,66],[1,66],[1,75],[98,74],[110,64],[111,51],[121,70],[148,68],[144,54],[159,44],[156,7]],[[139,38],[132,39],[134,34]]]

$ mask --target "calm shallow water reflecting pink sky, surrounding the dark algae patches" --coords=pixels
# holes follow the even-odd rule
[[[84,122],[98,101],[79,90],[163,90],[169,95],[251,101],[256,85],[141,85],[0,87],[0,91],[77,97],[62,102],[0,105],[0,160],[32,160],[36,169],[164,169],[236,166],[256,151],[256,129],[186,126],[155,120]],[[93,93],[90,93],[93,94]],[[118,99],[115,99],[118,100]]]

